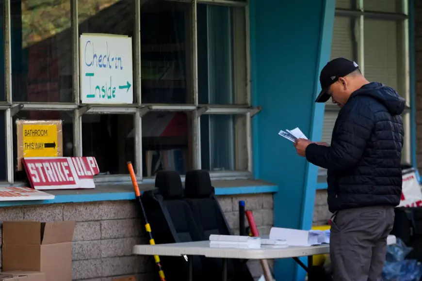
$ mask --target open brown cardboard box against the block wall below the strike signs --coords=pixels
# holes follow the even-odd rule
[[[41,271],[46,281],[72,281],[74,221],[3,222],[3,270]]]

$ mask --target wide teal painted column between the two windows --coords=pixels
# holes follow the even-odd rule
[[[277,135],[299,127],[321,138],[324,105],[315,105],[319,71],[331,50],[335,0],[251,0],[252,103],[262,106],[253,120],[254,173],[274,182],[274,224],[309,228],[316,167]],[[247,207],[247,206],[246,206]],[[304,280],[292,259],[276,260],[276,280]]]

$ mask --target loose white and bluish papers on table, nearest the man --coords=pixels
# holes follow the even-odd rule
[[[330,243],[329,230],[298,230],[272,227],[270,239],[285,239],[289,246],[313,246]]]

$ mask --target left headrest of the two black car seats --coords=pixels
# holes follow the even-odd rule
[[[155,187],[158,187],[164,199],[176,199],[183,196],[182,180],[176,171],[157,172]]]

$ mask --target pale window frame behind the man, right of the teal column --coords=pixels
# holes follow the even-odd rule
[[[387,13],[387,12],[376,12],[376,11],[366,11],[365,10],[365,0],[357,0],[357,7],[355,9],[343,9],[337,8],[335,10],[335,16],[341,17],[348,17],[350,19],[354,19],[358,23],[356,39],[357,42],[355,46],[353,46],[353,53],[356,56],[357,62],[359,63],[359,68],[363,75],[365,75],[365,60],[364,60],[364,29],[365,29],[365,20],[366,19],[378,19],[378,20],[386,20],[386,21],[396,21],[398,24],[398,28],[400,28],[401,38],[398,40],[398,43],[401,44],[401,57],[404,59],[402,63],[403,68],[405,71],[405,78],[404,78],[404,94],[402,95],[406,99],[406,108],[403,112],[403,120],[404,127],[405,127],[405,138],[404,143],[404,157],[402,156],[402,161],[411,162],[411,110],[414,110],[414,105],[411,104],[410,98],[410,46],[409,46],[409,11],[408,11],[408,0],[401,0],[401,9],[395,13]],[[402,25],[401,25],[402,24]],[[339,112],[340,108],[333,104],[325,103],[325,112]],[[325,124],[325,120],[323,125]],[[325,169],[318,169],[318,183],[324,182],[327,171]]]

